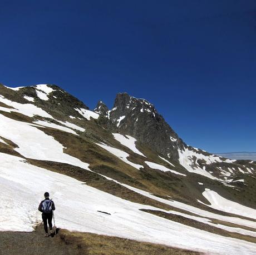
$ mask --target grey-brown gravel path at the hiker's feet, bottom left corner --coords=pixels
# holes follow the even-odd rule
[[[43,227],[34,232],[0,232],[1,255],[73,255],[79,254],[75,247],[61,241],[59,236],[45,237]]]

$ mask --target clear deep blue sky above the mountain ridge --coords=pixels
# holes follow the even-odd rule
[[[256,151],[256,1],[3,1],[0,82],[145,98],[191,146]]]

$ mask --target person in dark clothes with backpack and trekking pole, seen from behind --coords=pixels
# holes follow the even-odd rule
[[[53,201],[49,198],[49,193],[45,192],[45,200],[41,201],[38,210],[42,212],[43,227],[45,228],[45,237],[50,236],[52,231],[52,211],[55,210]],[[50,228],[50,234],[48,234],[47,220]]]

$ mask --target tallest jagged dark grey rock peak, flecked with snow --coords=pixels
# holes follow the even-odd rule
[[[117,94],[109,118],[120,133],[135,137],[166,157],[178,160],[178,149],[186,147],[163,116],[145,99],[127,93]]]

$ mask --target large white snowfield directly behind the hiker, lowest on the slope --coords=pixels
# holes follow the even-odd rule
[[[0,161],[0,209],[4,212],[0,215],[1,231],[33,231],[41,222],[38,204],[48,191],[56,204],[56,224],[61,228],[208,253],[255,254],[255,243],[218,236],[139,211],[156,208],[117,198],[71,177],[32,166],[23,158],[0,153]]]

